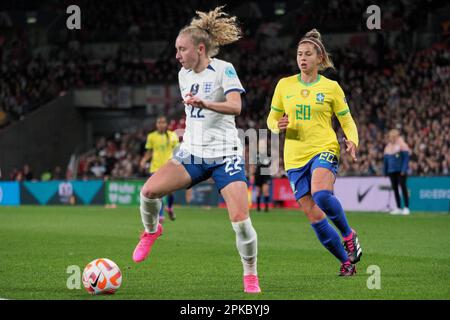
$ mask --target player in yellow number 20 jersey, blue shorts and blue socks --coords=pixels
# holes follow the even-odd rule
[[[340,260],[339,275],[351,276],[362,251],[333,194],[340,147],[331,120],[336,116],[340,122],[353,161],[357,160],[358,131],[339,84],[318,73],[333,64],[316,29],[300,40],[297,64],[300,73],[282,78],[275,88],[267,126],[274,133],[285,131],[284,166],[295,199],[320,242]]]

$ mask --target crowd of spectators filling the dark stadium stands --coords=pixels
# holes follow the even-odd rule
[[[188,22],[186,17],[190,14],[186,13],[186,6],[177,6],[177,10],[172,10],[169,14],[168,5],[164,2],[157,2],[152,10],[139,1],[131,1],[133,6],[115,2],[117,6],[114,6],[114,10],[119,12],[119,18],[114,19],[114,23],[108,20],[114,15],[104,14],[109,7],[95,3],[96,10],[88,10],[94,15],[88,16],[85,31],[76,37],[67,37],[67,31],[54,33],[54,45],[47,58],[32,54],[32,45],[23,31],[13,27],[5,29],[8,32],[0,36],[0,128],[22,119],[28,112],[73,88],[177,81],[179,65],[174,58],[173,45],[169,45],[160,57],[149,60],[142,56],[141,44],[149,39],[174,38],[180,22]],[[312,20],[322,21],[332,16],[336,6],[343,2],[345,1],[332,1],[332,5],[326,7],[321,16],[314,16]],[[188,3],[201,9],[202,6],[206,8],[207,2],[189,0]],[[413,24],[409,23],[410,16],[424,5],[423,1],[415,3],[416,6],[412,6],[409,15],[402,18],[405,21],[400,19],[401,28],[411,28]],[[89,1],[86,1],[86,5],[94,6]],[[211,5],[208,4],[208,7]],[[231,7],[237,10],[238,6],[234,6]],[[251,2],[249,8],[252,10],[247,10],[247,15],[242,18],[244,39],[219,54],[219,58],[233,62],[247,90],[243,99],[243,111],[236,118],[237,127],[244,130],[266,128],[265,120],[271,97],[269,93],[273,92],[279,78],[298,72],[295,61],[298,39],[292,39],[292,50],[267,48],[268,43],[276,41],[283,30],[290,28],[289,25],[280,28],[276,24],[270,25],[270,19],[266,15],[263,22],[261,11],[264,11],[264,7],[255,2]],[[399,8],[402,8],[401,3],[392,9],[393,18],[398,17]],[[349,10],[340,14],[352,17],[353,11]],[[319,11],[313,12],[317,15]],[[308,18],[303,17],[301,12],[295,14],[299,21]],[[147,19],[153,15],[155,19]],[[164,23],[158,20],[161,17],[164,17]],[[323,24],[326,25],[325,22]],[[308,24],[305,22],[298,25]],[[121,33],[118,30],[127,32]],[[291,30],[296,30],[296,34],[306,31]],[[117,34],[120,34],[119,38]],[[401,50],[410,49],[408,37],[403,35],[396,39],[396,48],[389,47],[382,37],[380,33],[379,40],[384,46],[377,42],[374,45],[331,50],[336,71],[326,70],[325,74],[338,80],[343,87],[360,135],[359,161],[351,163],[350,158],[344,154],[339,174],[382,175],[386,132],[397,128],[411,148],[410,174],[448,175],[448,38],[427,49]],[[84,45],[89,42],[110,40],[119,41],[120,45],[117,52],[109,58],[91,59],[84,50]],[[172,119],[171,129],[182,128],[183,121],[181,115]],[[98,137],[92,150],[80,156],[78,177],[142,176],[145,172],[139,168],[139,160],[144,152],[146,134],[141,129],[116,133],[112,137]],[[342,138],[341,131],[338,136]],[[283,174],[282,169],[279,174]]]

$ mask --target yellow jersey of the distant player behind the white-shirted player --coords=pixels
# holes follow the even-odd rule
[[[173,149],[178,145],[178,136],[175,132],[167,130],[164,133],[153,131],[147,136],[145,149],[153,150],[150,173],[161,168],[172,158]]]

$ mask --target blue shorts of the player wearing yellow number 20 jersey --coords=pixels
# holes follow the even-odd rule
[[[334,153],[322,152],[309,160],[303,167],[289,169],[287,174],[292,191],[294,192],[295,200],[298,201],[300,198],[311,193],[311,177],[314,169],[326,168],[336,175],[338,164],[339,160]]]

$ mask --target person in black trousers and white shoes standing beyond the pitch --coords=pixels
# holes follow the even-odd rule
[[[388,144],[384,148],[384,174],[391,180],[394,190],[395,202],[397,208],[392,210],[391,214],[409,215],[409,196],[406,187],[406,179],[409,164],[409,147],[400,132],[392,129],[388,133]],[[400,192],[398,186],[402,188],[404,207],[401,209]]]

